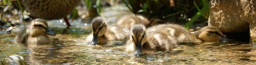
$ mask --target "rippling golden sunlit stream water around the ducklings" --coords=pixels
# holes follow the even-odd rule
[[[105,8],[111,9],[111,8]],[[116,10],[118,11],[118,10]],[[116,13],[116,11],[113,11]],[[128,9],[126,9],[127,12]],[[110,10],[102,13],[109,23],[114,23],[120,16]],[[129,13],[128,13],[129,14]],[[62,21],[62,22],[61,22]],[[107,64],[146,64],[146,65],[255,65],[255,44],[244,42],[215,43],[178,43],[173,51],[145,51],[141,56],[126,54],[125,41],[113,41],[99,45],[88,45],[84,42],[91,33],[90,23],[81,20],[70,20],[70,29],[65,29],[64,20],[51,20],[50,29],[57,35],[55,42],[40,44],[14,43],[17,32],[0,35],[0,60],[18,54],[26,59],[29,65],[107,65]],[[22,26],[20,28],[23,28]],[[19,28],[14,31],[19,31]],[[27,50],[27,48],[29,50]]]

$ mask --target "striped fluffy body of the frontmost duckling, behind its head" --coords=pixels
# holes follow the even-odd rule
[[[148,38],[145,44],[143,44],[143,50],[171,51],[178,47],[175,37],[158,31],[146,31],[146,33],[148,34]]]

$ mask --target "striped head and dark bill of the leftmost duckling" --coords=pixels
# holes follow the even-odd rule
[[[49,29],[47,22],[43,19],[32,20],[30,34],[34,37],[37,35],[44,35],[44,34],[48,34],[52,36],[56,35]]]

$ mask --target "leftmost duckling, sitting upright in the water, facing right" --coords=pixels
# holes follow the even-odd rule
[[[43,42],[53,42],[52,36],[55,34],[49,29],[48,24],[45,20],[35,19],[32,20],[30,27],[26,27],[21,31],[16,37],[16,42],[26,43],[25,37],[27,36],[28,43],[43,43]],[[26,36],[25,36],[26,35]]]

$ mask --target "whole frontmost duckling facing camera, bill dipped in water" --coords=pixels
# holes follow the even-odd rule
[[[137,24],[131,28],[130,40],[127,41],[126,52],[143,54],[142,51],[171,51],[177,48],[177,41],[158,31],[146,31],[145,25]]]

